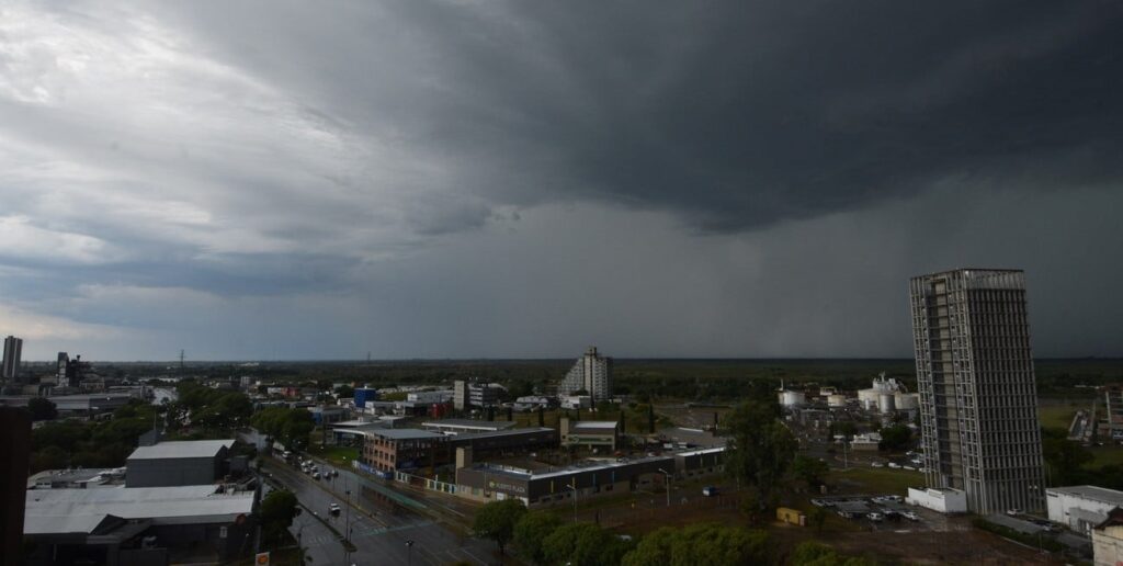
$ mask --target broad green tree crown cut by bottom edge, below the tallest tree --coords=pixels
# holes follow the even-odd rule
[[[622,566],[687,566],[695,564],[768,564],[768,533],[719,523],[664,527],[624,555]]]

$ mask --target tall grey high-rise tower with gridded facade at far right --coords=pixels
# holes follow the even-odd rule
[[[1024,273],[956,270],[910,291],[928,486],[965,491],[976,513],[1042,509]]]

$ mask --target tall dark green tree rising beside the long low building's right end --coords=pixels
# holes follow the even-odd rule
[[[779,407],[746,401],[725,417],[730,439],[725,446],[725,473],[741,485],[752,486],[764,511],[787,472],[798,442],[779,421]]]

